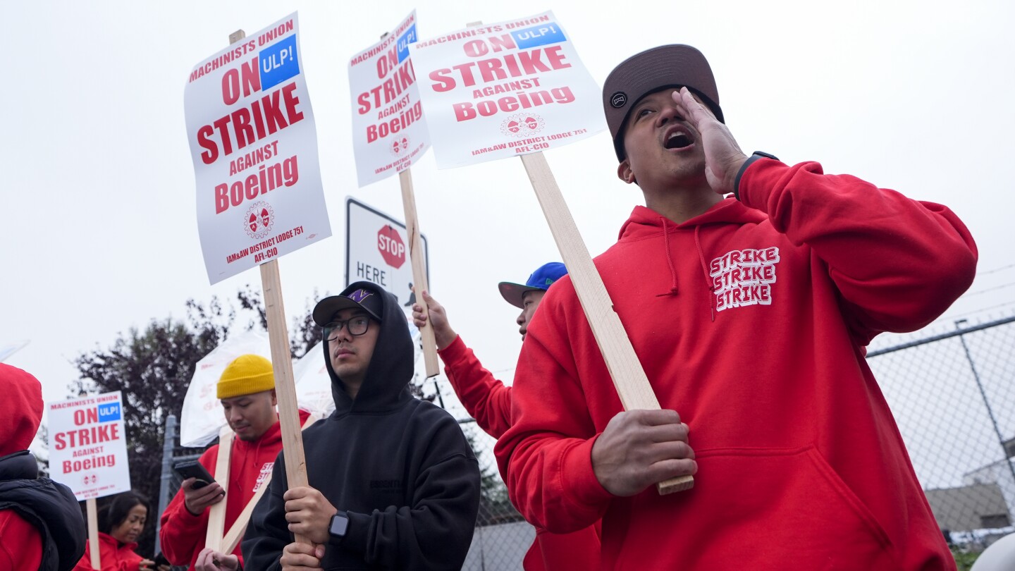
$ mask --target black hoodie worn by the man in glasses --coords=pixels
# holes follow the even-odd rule
[[[369,282],[353,283],[377,290]],[[350,398],[331,367],[335,411],[303,432],[307,478],[346,511],[345,538],[325,546],[322,569],[459,569],[479,510],[479,465],[458,423],[409,392],[413,346],[405,314],[382,292],[383,322],[366,376]],[[370,323],[377,327],[377,323]],[[292,543],[282,453],[244,537],[244,567],[280,569]]]

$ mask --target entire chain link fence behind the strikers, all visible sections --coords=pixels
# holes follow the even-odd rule
[[[945,327],[881,335],[867,360],[942,533],[967,569],[987,546],[1015,531],[1015,316]],[[424,392],[460,419],[479,459],[482,497],[463,569],[521,569],[535,529],[507,499],[494,439],[468,418],[443,376],[426,381]],[[176,419],[166,430],[176,434]],[[172,459],[196,452],[172,441],[166,447],[159,513],[180,486]]]

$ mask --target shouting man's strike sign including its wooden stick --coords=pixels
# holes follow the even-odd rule
[[[457,46],[458,52],[449,46]],[[430,59],[426,55],[430,50],[450,52],[457,60]],[[603,123],[599,87],[581,68],[559,22],[551,12],[491,25],[477,22],[414,44],[413,61],[420,76],[428,78],[420,93],[431,127],[441,133],[433,137],[437,166],[521,156],[621,403],[627,410],[659,409],[652,384],[542,153],[591,134],[592,128],[574,121],[599,128]],[[470,89],[472,101],[467,99]],[[448,92],[458,94],[445,97]],[[509,115],[520,110],[525,112]],[[585,117],[571,117],[576,110]],[[516,137],[515,141],[485,142],[493,140],[488,131],[497,121],[501,133]],[[477,125],[485,130],[477,131]],[[543,131],[547,134],[539,134]],[[443,158],[446,147],[449,158]],[[660,494],[671,494],[693,485],[693,477],[687,475],[656,486]]]

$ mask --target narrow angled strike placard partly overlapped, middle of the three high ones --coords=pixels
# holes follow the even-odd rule
[[[430,146],[409,45],[416,12],[381,42],[349,58],[352,150],[363,187],[408,169]]]

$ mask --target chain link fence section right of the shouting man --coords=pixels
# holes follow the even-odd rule
[[[961,569],[1015,531],[1015,316],[951,325],[882,335],[867,361]]]

